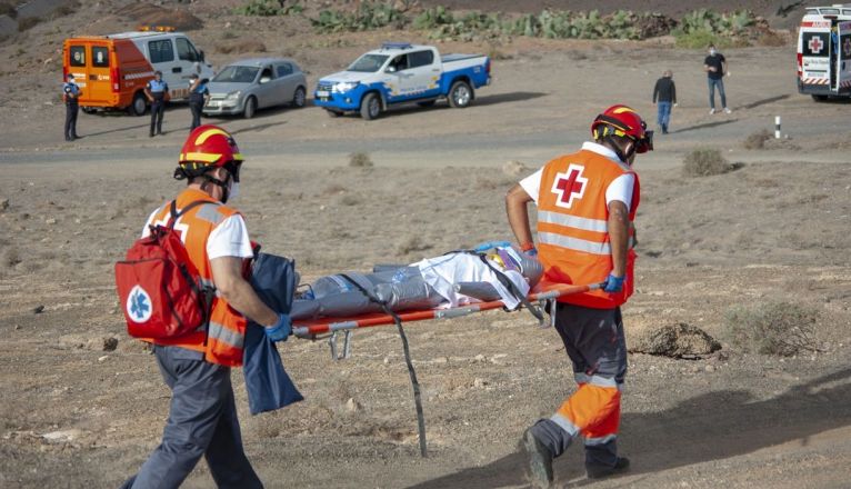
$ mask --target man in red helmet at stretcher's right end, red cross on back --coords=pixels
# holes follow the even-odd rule
[[[542,282],[590,285],[597,290],[559,299],[554,311],[579,385],[548,419],[525,430],[522,446],[531,482],[549,487],[552,459],[577,439],[585,449],[589,478],[625,471],[618,456],[621,387],[627,345],[620,306],[632,295],[639,180],[635,154],[653,149],[652,131],[634,110],[613,106],[591,124],[593,142],[548,162],[505,196],[509,224],[521,248],[537,253]],[[538,246],[527,204],[538,206]]]

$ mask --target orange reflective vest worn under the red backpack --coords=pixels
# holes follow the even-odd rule
[[[207,240],[217,226],[239,212],[220,204],[209,194],[196,189],[186,189],[180,192],[177,197],[178,211],[196,200],[207,200],[210,203],[190,209],[180,217],[174,230],[180,231],[189,259],[198,268],[202,283],[212,286],[212,270],[210,269],[210,259],[207,256]],[[167,202],[156,212],[152,223],[168,222],[170,203]],[[224,299],[217,296],[213,298],[208,328],[201,326],[198,330],[178,338],[147,339],[146,341],[201,351],[209,362],[238,367],[242,365],[242,346],[246,340],[247,326],[246,317],[231,308]]]

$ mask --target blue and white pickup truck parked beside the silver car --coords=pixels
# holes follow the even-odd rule
[[[397,103],[422,107],[445,98],[464,108],[475,89],[490,84],[491,61],[483,54],[447,54],[437,48],[409,43],[384,43],[358,58],[346,71],[319,80],[314,103],[332,117],[360,112],[372,120]]]

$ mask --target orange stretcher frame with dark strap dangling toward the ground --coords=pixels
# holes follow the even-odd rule
[[[602,288],[602,283],[592,283],[588,286],[570,286],[563,283],[538,283],[527,296],[527,300],[523,301],[527,307],[535,308],[534,302],[538,303],[534,316],[540,321],[541,327],[552,326],[555,315],[550,315],[549,323],[543,319],[541,310],[554,310],[554,302],[564,296],[572,293],[587,292],[589,290],[597,290]],[[549,308],[548,308],[549,306]],[[402,347],[404,350],[404,360],[408,366],[408,373],[411,379],[411,388],[413,390],[413,403],[417,410],[417,425],[419,431],[420,455],[427,457],[427,442],[426,442],[426,417],[422,411],[422,400],[420,397],[420,383],[417,380],[417,372],[413,369],[413,362],[411,361],[411,353],[408,347],[408,338],[404,335],[402,328],[403,322],[410,321],[424,321],[430,319],[453,319],[463,316],[473,315],[480,311],[487,311],[492,309],[503,308],[502,301],[484,301],[475,302],[467,306],[455,308],[435,308],[427,310],[411,310],[403,312],[393,312],[386,308],[386,313],[368,313],[351,318],[322,318],[310,321],[293,321],[293,335],[298,338],[316,340],[326,335],[329,346],[331,347],[331,357],[334,360],[342,360],[351,356],[351,333],[356,329],[372,328],[376,326],[389,326],[396,325],[399,330],[399,336],[402,340]],[[520,307],[518,307],[519,309]],[[338,337],[343,336],[342,351],[339,351]]]

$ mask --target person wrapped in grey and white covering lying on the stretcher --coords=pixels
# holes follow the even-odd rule
[[[484,247],[484,248],[483,248]],[[543,275],[541,262],[508,242],[452,251],[409,266],[376,266],[316,280],[296,296],[292,320],[458,307],[500,300],[513,310]]]

